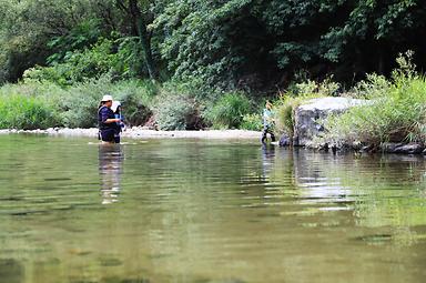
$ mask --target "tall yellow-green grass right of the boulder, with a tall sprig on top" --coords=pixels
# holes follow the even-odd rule
[[[369,75],[358,84],[357,97],[372,103],[356,107],[324,121],[324,139],[345,142],[426,141],[426,79],[417,74],[409,60],[398,59],[400,68],[390,80]]]

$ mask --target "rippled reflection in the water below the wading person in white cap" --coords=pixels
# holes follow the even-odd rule
[[[99,174],[102,204],[118,202],[122,174],[123,152],[120,144],[99,145]]]

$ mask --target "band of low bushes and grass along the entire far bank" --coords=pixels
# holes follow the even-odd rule
[[[400,67],[392,79],[369,74],[348,92],[372,103],[328,117],[323,121],[327,131],[322,141],[426,142],[426,79],[414,71],[409,58],[402,57],[398,62]],[[0,128],[97,127],[99,100],[110,93],[123,103],[130,125],[142,125],[154,117],[162,130],[262,130],[258,108],[263,103],[254,103],[242,92],[209,93],[196,85],[158,85],[148,80],[111,82],[106,77],[70,87],[37,80],[6,84],[0,88]],[[292,84],[274,101],[277,131],[292,137],[295,109],[305,100],[335,95],[338,89],[329,79]]]

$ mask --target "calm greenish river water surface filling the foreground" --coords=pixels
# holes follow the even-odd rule
[[[425,282],[424,158],[0,135],[0,282]]]

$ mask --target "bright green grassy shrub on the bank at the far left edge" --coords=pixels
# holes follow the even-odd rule
[[[47,129],[60,124],[53,105],[43,99],[24,95],[1,97],[0,128],[2,129]]]

